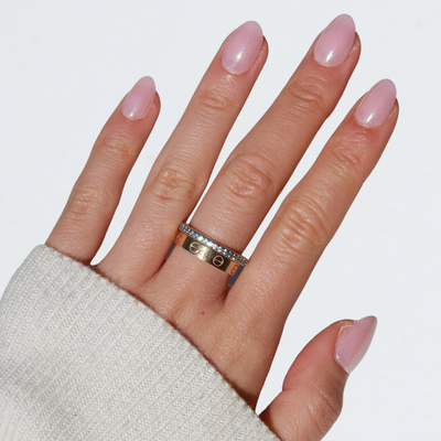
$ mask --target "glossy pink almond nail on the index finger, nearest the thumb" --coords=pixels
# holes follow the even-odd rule
[[[390,79],[381,79],[363,98],[355,118],[365,127],[380,126],[389,116],[396,98],[395,84]]]

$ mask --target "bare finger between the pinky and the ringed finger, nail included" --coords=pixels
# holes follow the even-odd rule
[[[120,286],[138,288],[163,263],[179,224],[194,209],[208,182],[267,53],[255,22],[245,23],[222,45],[155,161],[123,232],[99,263]]]

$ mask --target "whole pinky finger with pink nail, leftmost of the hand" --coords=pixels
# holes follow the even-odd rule
[[[98,136],[46,245],[86,265],[90,262],[159,110],[153,79],[141,78]]]

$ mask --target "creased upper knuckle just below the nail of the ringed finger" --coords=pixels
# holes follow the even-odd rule
[[[329,116],[331,103],[322,83],[318,77],[302,77],[290,82],[287,89],[294,109],[312,116]]]

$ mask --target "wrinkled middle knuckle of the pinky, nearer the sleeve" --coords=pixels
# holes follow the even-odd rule
[[[86,217],[106,206],[114,206],[115,200],[115,195],[106,185],[85,184],[73,192],[68,209],[74,216]]]

